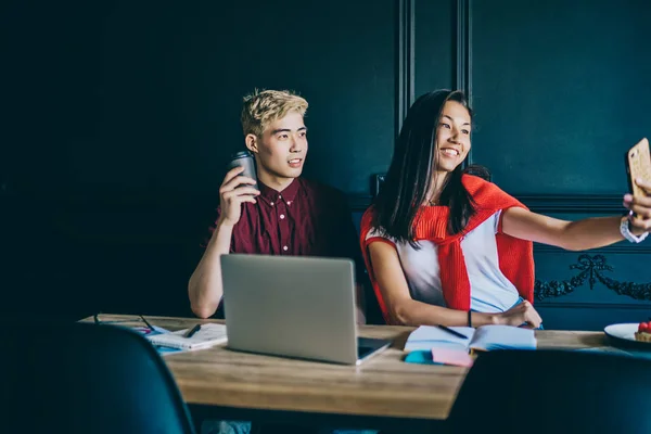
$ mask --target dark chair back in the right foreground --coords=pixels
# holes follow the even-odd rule
[[[497,350],[470,369],[449,433],[651,433],[651,361],[608,354]]]

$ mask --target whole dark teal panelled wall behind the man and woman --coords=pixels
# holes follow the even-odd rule
[[[469,91],[473,163],[560,218],[622,212],[622,154],[651,135],[644,0],[2,8],[4,312],[190,315],[186,282],[255,87],[308,99],[306,175],[348,193],[356,218],[406,107],[432,89]],[[571,269],[579,254],[536,246],[541,289],[566,292],[596,255],[612,267],[600,276],[638,284],[540,293],[546,327],[649,317],[650,250],[621,243]]]

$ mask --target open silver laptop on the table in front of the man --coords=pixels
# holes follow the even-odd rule
[[[359,365],[391,342],[357,336],[349,259],[221,255],[231,349]]]

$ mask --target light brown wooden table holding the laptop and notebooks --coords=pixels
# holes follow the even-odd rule
[[[101,316],[102,321],[131,318],[137,317]],[[197,322],[222,322],[165,317],[146,319],[173,331]],[[92,321],[92,318],[85,321],[88,320]],[[141,321],[138,323],[142,324]],[[467,369],[401,361],[405,341],[412,330],[408,327],[361,327],[361,336],[388,339],[394,343],[359,367],[245,354],[229,350],[225,345],[169,354],[164,359],[189,405],[219,410],[219,417],[225,419],[251,420],[280,412],[285,419],[288,414],[291,419],[303,414],[314,421],[320,416],[327,417],[329,422],[349,426],[387,426],[396,422],[405,430],[405,423],[410,422],[424,427],[447,418]],[[603,333],[598,332],[536,331],[536,336],[539,348],[605,345]]]

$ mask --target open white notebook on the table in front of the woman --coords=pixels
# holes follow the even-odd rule
[[[536,349],[534,331],[512,326],[450,327],[468,339],[455,336],[438,327],[421,326],[416,329],[405,344],[406,352],[430,350],[432,348],[489,352],[493,349]]]

